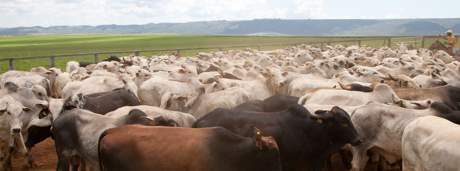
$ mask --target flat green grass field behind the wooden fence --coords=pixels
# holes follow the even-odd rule
[[[356,39],[368,39],[360,37]],[[370,39],[370,38],[369,38]],[[176,48],[196,48],[196,47],[218,47],[218,46],[238,46],[238,45],[257,45],[257,44],[283,44],[283,43],[310,43],[326,41],[353,40],[352,37],[272,37],[272,36],[195,36],[195,35],[47,35],[47,36],[15,36],[0,37],[0,59],[21,58],[49,55],[64,55],[77,53],[93,52],[115,52],[131,50],[159,50]],[[427,41],[429,42],[429,41]],[[431,44],[431,41],[429,44]],[[378,48],[383,41],[363,41],[361,44],[368,44]],[[338,43],[335,43],[338,44]],[[341,43],[352,45],[353,42]],[[326,44],[324,44],[326,45]],[[332,44],[334,45],[334,43]],[[321,46],[321,44],[316,44]],[[257,48],[257,47],[252,47]],[[285,46],[266,46],[261,50],[273,50],[285,48]],[[244,49],[244,48],[239,48]],[[224,49],[224,51],[236,49]],[[196,52],[211,52],[217,49],[189,50],[181,51],[183,56],[194,56]],[[164,52],[140,53],[140,56],[151,57],[153,55],[163,55]],[[117,57],[128,56],[128,54],[113,54]],[[99,62],[106,59],[109,55],[99,55]],[[55,59],[55,67],[65,71],[68,61],[94,62],[94,56],[75,56],[59,57]],[[0,73],[9,69],[8,61],[0,62]],[[49,68],[49,59],[16,60],[14,61],[15,70],[28,71],[31,67],[44,66]]]

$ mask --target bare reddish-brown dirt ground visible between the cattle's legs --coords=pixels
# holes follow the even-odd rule
[[[38,168],[31,168],[29,171],[56,171],[58,159],[56,155],[56,148],[54,146],[54,140],[48,138],[45,141],[35,145],[35,147],[32,148],[32,157],[34,158]],[[349,161],[351,161],[351,154],[347,155],[347,158]],[[22,170],[22,161],[22,158],[11,158],[13,171]],[[332,165],[334,171],[348,171],[348,169],[344,168],[342,159],[338,153],[332,155]],[[87,168],[87,171],[89,171],[89,168]],[[322,171],[327,171],[325,166]],[[372,171],[372,166],[369,164],[369,162],[365,171]],[[396,166],[395,169],[391,169],[391,167],[387,165],[387,171],[400,171],[400,169],[399,166]]]

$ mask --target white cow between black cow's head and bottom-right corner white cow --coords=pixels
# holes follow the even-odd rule
[[[401,159],[402,134],[410,122],[421,116],[451,112],[449,107],[439,102],[432,103],[430,108],[424,110],[393,107],[380,103],[371,103],[356,109],[352,113],[351,122],[363,139],[363,144],[352,147],[351,171],[360,171],[364,168],[368,161],[367,150],[371,148],[391,164],[395,163]]]

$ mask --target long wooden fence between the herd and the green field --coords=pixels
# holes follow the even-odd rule
[[[422,39],[422,43],[420,45],[421,48],[423,48],[424,38],[425,37],[421,37]],[[180,55],[181,51],[184,51],[184,50],[217,49],[218,51],[224,51],[224,48],[240,48],[240,47],[257,47],[257,49],[260,50],[261,47],[265,47],[265,46],[298,45],[298,44],[309,44],[309,45],[314,45],[314,46],[316,46],[317,44],[321,44],[320,47],[323,49],[324,44],[331,45],[331,43],[348,43],[348,42],[351,43],[352,42],[353,45],[356,45],[356,43],[358,43],[358,45],[361,45],[361,42],[363,41],[383,41],[383,44],[388,44],[387,46],[391,47],[392,40],[394,39],[397,39],[397,38],[376,38],[376,39],[356,39],[354,38],[353,40],[345,40],[345,41],[331,41],[331,39],[329,39],[329,41],[324,41],[324,42],[308,42],[308,43],[284,43],[284,44],[239,45],[239,46],[198,47],[198,48],[178,48],[178,49],[158,49],[158,50],[131,50],[131,51],[117,51],[117,52],[94,52],[94,53],[78,53],[78,54],[66,54],[66,55],[23,57],[23,58],[6,58],[6,59],[0,59],[0,61],[9,61],[9,70],[14,70],[14,61],[16,60],[49,58],[49,67],[51,68],[51,67],[54,67],[55,58],[59,58],[59,57],[94,55],[94,63],[98,63],[99,55],[104,55],[104,54],[134,53],[136,56],[139,56],[140,53],[145,53],[145,52],[177,51],[177,54]],[[404,38],[401,38],[401,39],[404,39]],[[345,46],[347,45],[345,44]]]

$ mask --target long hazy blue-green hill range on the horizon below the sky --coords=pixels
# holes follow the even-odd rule
[[[142,25],[78,25],[0,28],[0,35],[46,34],[190,34],[259,36],[432,36],[453,30],[460,34],[460,18],[389,20],[199,21]]]

